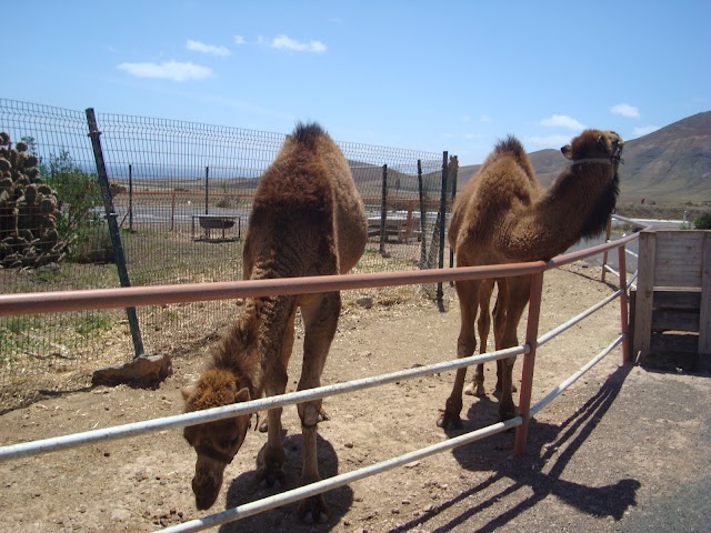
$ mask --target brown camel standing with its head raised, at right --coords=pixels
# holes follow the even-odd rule
[[[600,234],[617,202],[622,145],[622,139],[613,131],[583,131],[571,144],[561,148],[571,163],[544,191],[521,143],[513,137],[499,142],[479,173],[457,197],[449,228],[457,264],[548,260],[581,238]],[[497,350],[519,343],[517,328],[529,301],[530,280],[530,276],[495,280],[499,288],[493,313]],[[488,313],[493,281],[457,282],[461,310],[459,358],[471,356],[477,349],[477,311],[482,308]],[[515,415],[511,395],[514,361],[515,358],[500,361],[501,420]],[[465,375],[465,368],[457,371],[452,393],[438,420],[440,428],[461,428],[459,415]]]

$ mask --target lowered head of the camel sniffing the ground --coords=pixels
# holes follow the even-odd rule
[[[250,400],[249,389],[239,389],[234,375],[223,369],[208,370],[193,389],[183,389],[182,395],[186,412]],[[242,446],[250,420],[250,414],[242,414],[184,429],[183,436],[198,453],[192,492],[199,510],[210,509],[218,499],[224,469]]]

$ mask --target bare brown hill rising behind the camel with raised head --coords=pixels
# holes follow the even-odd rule
[[[492,147],[493,148],[493,147]],[[549,187],[567,164],[559,150],[531,152],[538,179]],[[711,111],[627,141],[620,168],[620,203],[711,203]],[[461,189],[479,164],[461,167]]]

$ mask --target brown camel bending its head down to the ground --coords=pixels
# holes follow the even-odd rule
[[[343,153],[318,124],[298,124],[257,188],[244,242],[244,278],[346,273],[362,255],[367,238],[365,210]],[[183,391],[186,411],[283,394],[297,308],[304,325],[298,389],[320,386],[341,311],[340,293],[248,298],[207,371],[193,389]],[[284,481],[281,411],[272,409],[268,414],[263,465],[258,471],[258,479],[268,484]],[[298,405],[303,484],[321,479],[317,457],[320,412],[321,400]],[[249,426],[250,415],[244,414],[186,428],[186,440],[198,453],[192,480],[198,509],[209,509],[217,500],[224,469]],[[328,507],[322,496],[303,500],[299,515],[306,521],[324,520]]]

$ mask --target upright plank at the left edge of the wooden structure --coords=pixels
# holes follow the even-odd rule
[[[654,231],[640,232],[638,259],[639,279],[634,310],[634,345],[632,359],[644,356],[649,352],[652,334],[652,298],[654,294]]]

